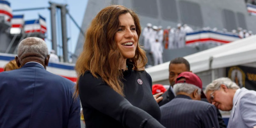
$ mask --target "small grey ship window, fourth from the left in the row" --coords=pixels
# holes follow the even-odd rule
[[[237,29],[235,13],[231,10],[223,10],[222,13],[224,17],[224,28],[228,31],[232,31],[232,29]]]

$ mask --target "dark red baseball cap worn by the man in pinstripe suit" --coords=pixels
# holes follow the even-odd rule
[[[179,81],[180,78],[185,78],[185,81]],[[202,92],[201,92],[201,98],[206,98],[204,92],[203,92],[203,84],[202,80],[200,77],[196,76],[196,74],[193,74],[192,72],[182,72],[179,74],[177,79],[175,80],[175,84],[177,83],[188,83],[188,84],[193,84],[195,86],[198,86]]]

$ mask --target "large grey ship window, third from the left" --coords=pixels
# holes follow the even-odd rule
[[[182,23],[202,27],[203,19],[200,5],[189,1],[179,1]]]

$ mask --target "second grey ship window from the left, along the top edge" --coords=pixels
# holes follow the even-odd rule
[[[177,6],[175,0],[161,0],[161,16],[164,20],[178,21]]]

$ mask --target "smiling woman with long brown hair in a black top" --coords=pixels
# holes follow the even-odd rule
[[[76,63],[74,93],[86,127],[163,127],[140,33],[138,15],[124,6],[108,6],[92,20]]]

